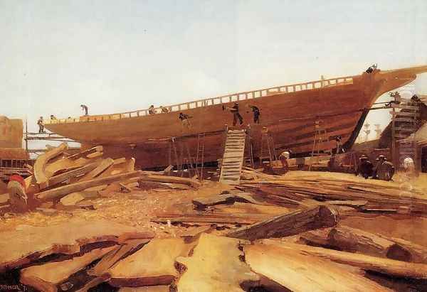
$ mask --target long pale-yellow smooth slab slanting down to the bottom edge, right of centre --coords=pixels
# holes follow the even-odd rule
[[[255,273],[275,281],[286,291],[390,291],[317,256],[265,244],[246,245],[243,251],[246,263]]]

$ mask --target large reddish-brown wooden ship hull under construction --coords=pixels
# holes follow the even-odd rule
[[[156,109],[157,114],[149,114],[144,109],[50,120],[45,126],[79,141],[83,147],[102,145],[108,156],[135,157],[142,168],[179,165],[185,162],[184,158],[196,158],[201,146],[204,146],[203,161],[209,163],[222,157],[226,129],[233,123],[233,114],[223,107],[238,102],[243,117],[240,127],[250,128],[255,158],[260,156],[263,127],[273,137],[275,151],[291,150],[302,156],[312,151],[315,122],[319,120],[327,136],[319,145],[320,151],[335,148],[336,136],[342,137],[344,148],[350,148],[376,99],[415,80],[422,72],[427,72],[427,66],[374,70],[176,104],[169,106],[167,113]],[[260,109],[259,124],[254,124],[248,105]],[[179,119],[180,112],[191,117],[189,126]]]

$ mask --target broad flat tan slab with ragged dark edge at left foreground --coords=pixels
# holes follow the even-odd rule
[[[137,232],[137,229],[107,220],[88,222],[73,218],[46,227],[21,225],[17,230],[1,233],[0,272],[49,254],[75,254],[85,244],[119,242],[120,237],[126,237],[130,232]],[[141,233],[147,238],[154,237],[154,234]]]

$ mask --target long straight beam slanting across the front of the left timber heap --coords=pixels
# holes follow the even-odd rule
[[[142,171],[132,171],[131,173],[123,173],[119,175],[111,175],[105,178],[95,178],[93,180],[86,180],[78,183],[72,183],[70,185],[64,185],[53,190],[45,190],[44,192],[35,195],[38,200],[46,201],[62,198],[69,193],[75,193],[80,190],[92,188],[97,185],[104,185],[107,183],[113,183],[115,181],[125,180],[127,178],[135,178],[142,174]]]

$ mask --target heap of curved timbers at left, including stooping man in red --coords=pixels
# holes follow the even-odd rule
[[[86,199],[102,193],[130,193],[142,182],[174,183],[187,188],[199,188],[200,183],[190,178],[157,175],[136,171],[135,158],[104,158],[102,146],[68,155],[63,143],[50,148],[36,159],[32,175],[21,184],[7,185],[9,207],[14,212],[26,212],[51,201],[57,207],[75,207]],[[84,206],[84,204],[83,204]]]

